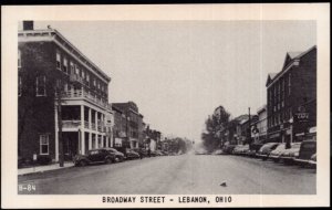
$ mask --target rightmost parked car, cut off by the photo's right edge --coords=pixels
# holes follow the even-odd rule
[[[310,158],[317,153],[317,141],[315,140],[303,140],[299,156],[295,157],[294,161],[301,166],[305,166],[309,164]]]

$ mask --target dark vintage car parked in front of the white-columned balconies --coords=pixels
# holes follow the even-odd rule
[[[115,160],[115,155],[106,149],[91,149],[86,155],[76,155],[73,159],[75,166],[86,166],[91,164],[106,162]]]

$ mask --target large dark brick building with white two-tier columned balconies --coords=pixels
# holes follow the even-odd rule
[[[61,136],[68,158],[110,146],[111,77],[54,29],[27,21],[18,42],[19,156],[58,161]]]

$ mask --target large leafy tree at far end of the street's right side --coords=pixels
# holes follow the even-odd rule
[[[212,151],[225,143],[229,116],[230,114],[222,106],[218,106],[206,119],[206,130],[201,134],[201,139],[208,151]]]

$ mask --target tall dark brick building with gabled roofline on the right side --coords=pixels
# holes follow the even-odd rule
[[[288,52],[282,70],[269,74],[266,86],[268,140],[300,141],[299,134],[315,126],[317,46]]]

